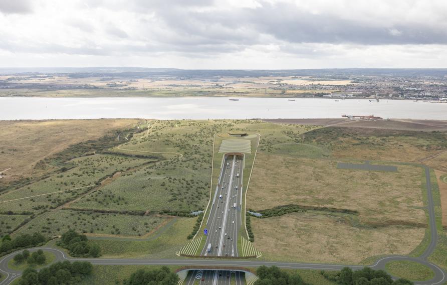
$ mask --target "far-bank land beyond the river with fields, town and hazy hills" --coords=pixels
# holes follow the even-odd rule
[[[81,90],[88,89],[83,93]],[[63,93],[55,92],[63,90]],[[71,93],[70,90],[74,90]],[[47,91],[47,92],[42,92]],[[105,92],[106,91],[106,92]],[[447,102],[444,69],[0,70],[0,96],[296,97]]]

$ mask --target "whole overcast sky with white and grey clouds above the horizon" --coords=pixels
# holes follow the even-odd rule
[[[0,0],[0,67],[447,67],[446,0]]]

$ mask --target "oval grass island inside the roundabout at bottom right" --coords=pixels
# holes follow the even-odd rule
[[[433,270],[414,261],[391,261],[385,264],[385,269],[393,276],[412,281],[430,280],[434,277]]]

